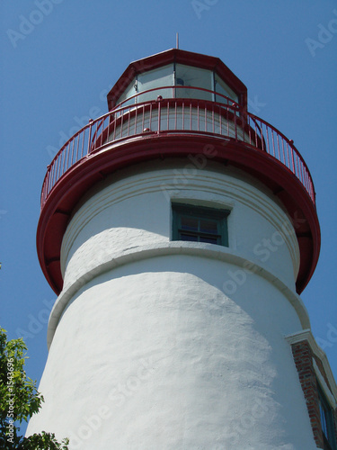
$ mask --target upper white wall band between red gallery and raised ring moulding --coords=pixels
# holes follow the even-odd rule
[[[179,167],[108,185],[85,202],[67,229],[64,288],[97,266],[98,258],[102,264],[130,248],[168,243],[171,201],[176,201],[230,209],[228,250],[267,268],[294,290],[299,252],[291,222],[270,197],[235,175]]]

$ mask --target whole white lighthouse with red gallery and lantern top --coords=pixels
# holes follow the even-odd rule
[[[58,294],[28,434],[70,449],[336,449],[337,386],[299,294],[320,249],[292,140],[219,59],[129,65],[48,166]]]

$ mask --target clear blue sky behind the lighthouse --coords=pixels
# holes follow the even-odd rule
[[[47,358],[55,294],[38,262],[40,188],[59,148],[107,112],[129,62],[175,47],[221,58],[248,88],[249,110],[295,144],[314,178],[322,249],[301,297],[337,377],[337,4],[331,0],[17,0],[1,2],[0,325]],[[85,116],[85,117],[84,117]]]

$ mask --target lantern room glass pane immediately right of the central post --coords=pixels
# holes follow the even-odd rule
[[[176,97],[200,98],[201,100],[213,100],[212,93],[200,91],[199,89],[185,89],[187,87],[202,87],[213,90],[213,72],[199,67],[184,66],[177,64],[175,67]],[[180,87],[182,86],[182,87]]]

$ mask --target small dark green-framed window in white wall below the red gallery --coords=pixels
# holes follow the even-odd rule
[[[206,242],[228,247],[229,211],[182,203],[173,204],[173,240]]]

